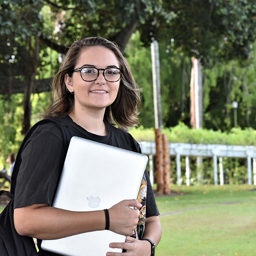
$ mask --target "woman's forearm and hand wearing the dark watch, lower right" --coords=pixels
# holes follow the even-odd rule
[[[158,216],[152,216],[146,218],[145,230],[143,238],[152,240],[156,246],[159,244],[161,239],[161,224]],[[127,253],[112,253],[108,252],[107,256],[121,256],[129,255],[131,256],[151,256],[151,244],[146,240],[137,240],[132,237],[127,237],[125,243],[111,243],[110,248],[121,248],[127,250]]]

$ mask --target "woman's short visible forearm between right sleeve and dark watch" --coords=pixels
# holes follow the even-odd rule
[[[156,246],[159,244],[161,239],[162,229],[158,216],[152,216],[146,218],[145,230],[143,238],[152,240]]]

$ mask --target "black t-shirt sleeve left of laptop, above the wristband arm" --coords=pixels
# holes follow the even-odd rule
[[[56,126],[56,125],[55,125]],[[49,132],[49,129],[55,132]],[[58,128],[38,127],[25,144],[15,188],[14,208],[32,204],[52,205],[65,159]]]

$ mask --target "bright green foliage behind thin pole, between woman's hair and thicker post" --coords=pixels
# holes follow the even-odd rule
[[[162,119],[166,127],[179,121],[189,124],[190,60],[165,43],[160,43],[160,83]],[[154,127],[152,63],[150,47],[143,47],[140,34],[134,33],[125,51],[135,81],[141,88],[140,124]]]

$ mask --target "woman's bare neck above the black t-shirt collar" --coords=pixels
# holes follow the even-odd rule
[[[95,111],[91,109],[90,111],[86,111],[85,108],[74,108],[69,116],[76,124],[87,131],[96,135],[105,136],[108,134],[108,129],[103,122],[104,113],[105,109]]]

